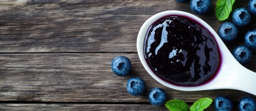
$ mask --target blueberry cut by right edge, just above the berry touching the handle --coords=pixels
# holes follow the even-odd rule
[[[247,47],[256,50],[256,29],[248,31],[244,36],[244,41]]]

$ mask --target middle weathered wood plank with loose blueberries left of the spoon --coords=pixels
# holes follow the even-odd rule
[[[131,59],[131,74],[119,77],[111,71],[114,57]],[[256,56],[246,65],[256,72]],[[139,97],[126,91],[129,78],[139,76],[147,90]],[[184,92],[170,89],[154,80],[141,65],[137,54],[56,53],[0,54],[0,101],[44,102],[147,102],[153,87],[166,90],[168,99],[194,102],[203,97],[227,95],[234,101],[250,95],[235,90]]]

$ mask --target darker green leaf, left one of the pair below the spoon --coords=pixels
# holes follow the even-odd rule
[[[189,111],[189,106],[182,100],[170,100],[165,105],[170,111]]]

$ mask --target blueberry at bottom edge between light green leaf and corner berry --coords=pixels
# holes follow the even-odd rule
[[[227,96],[218,96],[214,99],[215,111],[231,111],[233,107],[232,101]]]

